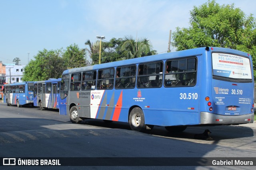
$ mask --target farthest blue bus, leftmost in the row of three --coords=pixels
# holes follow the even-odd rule
[[[17,105],[34,105],[33,101],[34,82],[20,82],[4,84],[4,103],[7,106]]]

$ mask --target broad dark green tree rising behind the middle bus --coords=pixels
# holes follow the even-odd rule
[[[61,57],[61,50],[38,51],[34,56],[35,60],[31,60],[24,67],[24,81],[40,81],[49,78],[60,78],[62,72],[66,69],[64,59]]]

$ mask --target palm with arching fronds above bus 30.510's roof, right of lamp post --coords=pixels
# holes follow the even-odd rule
[[[121,51],[126,51],[126,59],[155,55],[150,41],[146,38],[140,38],[136,41],[131,35],[125,36],[121,43]]]

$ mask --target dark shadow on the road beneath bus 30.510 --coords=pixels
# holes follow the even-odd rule
[[[112,129],[130,129],[129,123],[109,121],[104,122],[99,119],[85,119],[81,124],[93,125],[97,127],[106,127]],[[213,141],[225,139],[238,139],[244,137],[253,137],[254,131],[249,127],[233,126],[233,125],[219,125],[219,126],[190,126],[180,133],[171,133],[164,127],[154,126],[151,131],[146,131],[146,134],[156,135],[159,137],[172,137],[176,139],[194,139],[195,134],[203,133],[205,129],[209,129],[212,133],[210,137]]]

